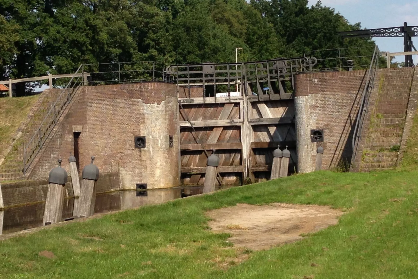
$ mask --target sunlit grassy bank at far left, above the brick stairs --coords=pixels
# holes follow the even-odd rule
[[[0,150],[3,151],[10,144],[13,134],[20,123],[28,117],[38,95],[28,97],[0,98]]]

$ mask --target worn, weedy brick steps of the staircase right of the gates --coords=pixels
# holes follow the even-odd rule
[[[413,68],[384,69],[370,119],[360,171],[396,167],[405,125]],[[376,77],[379,78],[379,77]]]

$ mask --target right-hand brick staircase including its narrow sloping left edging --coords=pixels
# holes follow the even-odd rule
[[[401,151],[405,149],[416,111],[414,72],[413,67],[379,70],[358,150],[361,156],[357,157],[354,170],[375,171],[397,165],[398,150],[401,146]],[[407,109],[409,121],[405,125]]]

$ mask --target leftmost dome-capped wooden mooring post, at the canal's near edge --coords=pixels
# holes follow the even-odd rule
[[[66,170],[61,168],[62,160],[58,160],[58,167],[53,168],[48,178],[48,194],[46,194],[43,225],[51,225],[61,221],[62,206],[64,204],[64,186],[68,181]]]

